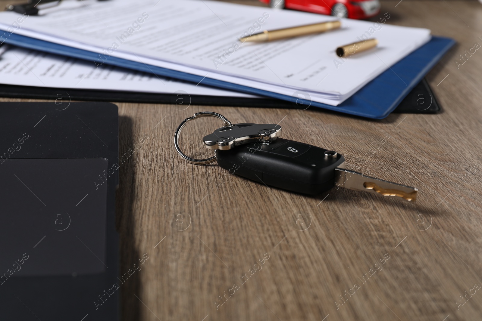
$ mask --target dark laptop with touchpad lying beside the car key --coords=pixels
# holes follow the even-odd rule
[[[0,320],[119,320],[117,106],[61,109],[0,103]]]

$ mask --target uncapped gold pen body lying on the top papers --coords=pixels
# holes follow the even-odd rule
[[[284,39],[284,38],[292,38],[292,37],[305,36],[305,35],[320,33],[320,32],[328,31],[332,29],[337,29],[340,26],[341,26],[341,22],[336,20],[336,21],[322,22],[319,24],[297,26],[297,27],[277,29],[277,30],[271,30],[271,31],[265,30],[261,33],[240,38],[240,41],[241,42],[246,42],[246,41],[264,42],[264,41],[278,40],[278,39]]]

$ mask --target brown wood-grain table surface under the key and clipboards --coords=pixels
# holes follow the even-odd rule
[[[441,114],[375,121],[314,109],[118,103],[121,155],[149,136],[120,167],[122,273],[149,255],[123,285],[123,320],[481,320],[482,51],[455,62],[482,44],[482,5],[395,0],[382,2],[385,12],[388,24],[457,40],[428,74]],[[188,164],[174,150],[174,130],[206,110],[233,123],[281,122],[284,138],[416,186],[418,200],[344,189],[309,197],[215,163]],[[208,155],[199,137],[220,126],[189,123],[183,148]]]

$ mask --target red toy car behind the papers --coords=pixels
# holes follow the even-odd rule
[[[365,19],[380,12],[379,0],[260,0],[271,8],[294,9],[335,15],[340,18]]]

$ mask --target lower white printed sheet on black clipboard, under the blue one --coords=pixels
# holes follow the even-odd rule
[[[0,84],[5,85],[259,97],[8,45],[0,47],[0,51],[4,51],[0,52]]]

